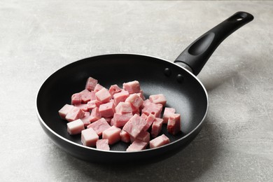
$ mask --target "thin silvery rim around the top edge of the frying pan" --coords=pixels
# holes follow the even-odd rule
[[[60,69],[64,69],[64,67],[66,66],[69,66],[71,64],[75,64],[76,62],[80,62],[80,61],[83,61],[84,59],[89,59],[89,58],[92,58],[92,57],[103,57],[103,56],[110,56],[110,55],[114,55],[114,56],[118,56],[118,55],[133,55],[133,56],[144,56],[144,57],[148,57],[148,58],[155,58],[155,59],[160,59],[162,61],[165,61],[165,62],[169,62],[170,64],[174,64],[175,66],[179,66],[181,69],[187,71],[188,73],[190,73],[191,76],[193,76],[193,78],[195,78],[197,80],[198,83],[200,83],[200,85],[202,86],[203,90],[204,90],[204,93],[207,97],[207,109],[206,109],[206,112],[204,113],[204,116],[201,120],[201,122],[191,131],[189,132],[188,134],[186,134],[185,136],[181,137],[180,139],[177,139],[176,141],[172,141],[171,143],[169,144],[166,144],[164,146],[160,146],[160,147],[157,147],[157,148],[147,148],[143,151],[104,151],[104,150],[101,150],[101,149],[97,149],[97,148],[92,148],[92,147],[89,147],[89,146],[83,146],[81,144],[78,144],[74,141],[71,141],[69,139],[66,139],[64,137],[62,137],[61,135],[59,135],[57,132],[53,131],[48,125],[46,125],[46,123],[43,121],[43,118],[41,118],[39,112],[38,112],[38,94],[40,93],[40,90],[41,90],[41,87],[43,86],[43,84],[45,84],[45,82],[55,73],[57,73],[57,71],[59,71]],[[66,64],[64,66],[62,66],[61,68],[57,69],[55,72],[51,73],[50,76],[48,76],[44,81],[43,83],[40,85],[40,87],[38,87],[38,92],[36,92],[36,115],[38,116],[38,120],[40,121],[41,124],[43,124],[43,126],[51,133],[51,134],[54,134],[55,137],[59,138],[59,139],[62,139],[63,141],[66,141],[72,145],[76,145],[76,146],[79,146],[81,148],[85,148],[87,150],[91,150],[91,151],[99,151],[99,152],[106,152],[106,153],[145,153],[145,152],[148,152],[148,151],[154,151],[154,150],[158,150],[159,148],[164,148],[166,146],[170,146],[170,145],[173,145],[175,144],[176,142],[179,142],[183,139],[186,139],[187,137],[189,137],[191,134],[193,134],[193,132],[195,132],[199,127],[201,127],[201,125],[204,123],[204,120],[205,118],[207,117],[207,113],[209,111],[209,96],[208,96],[208,93],[207,93],[207,90],[206,88],[204,87],[204,85],[202,84],[202,82],[199,80],[199,78],[197,78],[197,76],[195,76],[192,72],[188,71],[188,69],[185,69],[183,66],[180,66],[178,64],[175,64],[174,62],[172,61],[169,61],[167,59],[162,59],[160,57],[155,57],[155,56],[151,56],[151,55],[144,55],[144,54],[137,54],[137,53],[109,53],[109,54],[104,54],[104,55],[94,55],[94,56],[91,56],[91,57],[85,57],[83,59],[78,59],[77,61],[74,61],[74,62],[71,62],[69,64]],[[51,139],[51,138],[50,138]],[[51,139],[52,140],[52,139]]]

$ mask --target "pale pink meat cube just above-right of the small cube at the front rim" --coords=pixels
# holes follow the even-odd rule
[[[111,126],[102,132],[102,139],[108,139],[110,145],[115,144],[120,141],[120,131],[119,127]]]

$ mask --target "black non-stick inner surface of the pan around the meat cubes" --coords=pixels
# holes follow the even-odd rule
[[[165,69],[169,69],[166,73]],[[177,76],[182,79],[178,81]],[[139,80],[141,90],[148,98],[151,94],[165,94],[167,106],[181,113],[182,132],[176,136],[163,133],[176,141],[197,127],[207,112],[207,94],[200,82],[180,66],[155,57],[144,55],[102,55],[73,62],[53,73],[43,83],[37,96],[38,115],[55,133],[77,144],[80,134],[71,136],[66,131],[66,121],[58,111],[70,104],[71,95],[85,89],[85,82],[92,76],[106,88]],[[129,144],[120,142],[111,146],[113,151],[125,151]]]

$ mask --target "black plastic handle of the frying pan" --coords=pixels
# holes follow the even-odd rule
[[[218,45],[234,31],[253,19],[253,15],[249,13],[242,11],[235,13],[227,20],[207,31],[200,38],[197,38],[186,50],[183,50],[174,62],[186,68],[188,67],[197,76]]]

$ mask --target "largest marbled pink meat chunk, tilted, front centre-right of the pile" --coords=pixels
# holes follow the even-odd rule
[[[135,139],[137,135],[144,129],[146,126],[146,120],[135,114],[123,127],[123,130],[130,134],[130,137]]]

